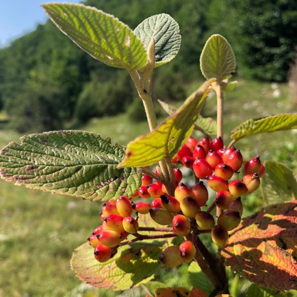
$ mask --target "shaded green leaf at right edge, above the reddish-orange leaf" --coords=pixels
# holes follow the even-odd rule
[[[285,165],[265,161],[261,179],[262,197],[267,205],[297,199],[297,178]]]

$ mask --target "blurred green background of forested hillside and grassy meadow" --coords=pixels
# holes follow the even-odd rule
[[[114,14],[131,28],[157,13],[175,18],[181,49],[172,62],[155,70],[153,98],[177,106],[203,80],[199,56],[207,38],[213,33],[226,37],[237,57],[239,84],[226,94],[225,140],[248,118],[296,112],[296,0],[86,0],[85,4]],[[159,118],[164,118],[155,106]],[[215,117],[213,98],[203,114]],[[148,131],[129,75],[93,59],[48,21],[0,49],[0,145],[28,133],[69,128],[109,135],[121,144]],[[293,130],[247,138],[238,147],[245,159],[261,155],[262,160],[281,161],[296,172],[295,140]],[[245,203],[246,215],[263,205],[259,192]],[[0,181],[0,296],[120,296],[78,287],[81,282],[69,267],[72,250],[98,224],[96,203]],[[170,276],[181,286],[191,286],[190,280],[181,279],[182,269],[174,269]],[[139,292],[133,296],[143,296]]]

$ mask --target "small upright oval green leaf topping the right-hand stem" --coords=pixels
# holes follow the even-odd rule
[[[235,72],[235,55],[228,41],[219,34],[211,35],[200,55],[200,69],[206,79],[215,77],[220,83]]]

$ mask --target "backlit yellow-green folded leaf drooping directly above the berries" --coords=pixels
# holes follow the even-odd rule
[[[187,141],[193,131],[193,124],[207,98],[211,80],[194,92],[185,103],[150,133],[130,142],[126,156],[119,167],[149,166],[166,156],[173,157]]]

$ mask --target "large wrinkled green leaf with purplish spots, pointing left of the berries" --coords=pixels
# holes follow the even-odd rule
[[[141,185],[136,168],[118,169],[124,147],[84,131],[53,131],[21,138],[0,151],[0,174],[17,185],[88,200],[132,195]]]

